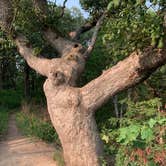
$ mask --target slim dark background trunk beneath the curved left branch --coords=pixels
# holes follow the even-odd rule
[[[28,99],[30,97],[30,67],[28,64],[25,62],[24,66],[24,95],[25,98]]]

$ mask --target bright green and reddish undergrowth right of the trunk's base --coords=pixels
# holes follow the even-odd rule
[[[103,127],[101,136],[107,145],[106,152],[116,154],[117,166],[165,163],[166,115],[158,109],[160,106],[158,98],[129,101],[123,118],[115,121],[119,129]]]

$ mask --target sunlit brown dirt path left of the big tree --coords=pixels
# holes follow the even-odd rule
[[[11,115],[7,138],[0,142],[0,166],[56,166],[54,152],[52,146],[22,136]]]

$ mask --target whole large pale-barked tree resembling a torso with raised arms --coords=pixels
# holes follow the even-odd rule
[[[11,24],[14,15],[11,1],[1,0],[0,5],[1,28],[9,37],[12,35],[20,55],[28,65],[46,77],[44,93],[48,111],[61,140],[66,164],[70,166],[76,166],[78,163],[80,166],[100,165],[103,148],[94,119],[95,111],[110,97],[142,82],[158,67],[164,65],[166,63],[165,47],[161,49],[147,46],[142,51],[134,51],[123,61],[103,71],[98,78],[83,87],[77,87],[77,80],[84,71],[88,57],[94,48],[97,32],[103,19],[114,14],[115,7],[120,4],[117,4],[117,1],[107,3],[106,6],[109,6],[109,10],[111,9],[110,14],[107,9],[98,11],[98,8],[92,7],[98,11],[97,14],[92,12],[96,18],[91,23],[69,33],[71,37],[69,39],[64,37],[64,34],[61,35],[53,30],[50,24],[46,24],[49,13],[47,1],[33,0],[36,16],[40,23],[44,24],[41,32],[59,56],[52,59],[36,56],[27,38],[15,32]],[[124,6],[119,6],[119,10],[122,7]],[[91,43],[85,49],[78,39],[83,32],[94,26],[96,28]],[[165,38],[163,42],[166,42]]]

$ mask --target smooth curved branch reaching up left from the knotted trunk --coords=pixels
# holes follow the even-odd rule
[[[28,46],[25,37],[19,35],[15,39],[19,53],[27,61],[28,65],[41,75],[49,75],[51,60],[34,56],[33,49]]]

